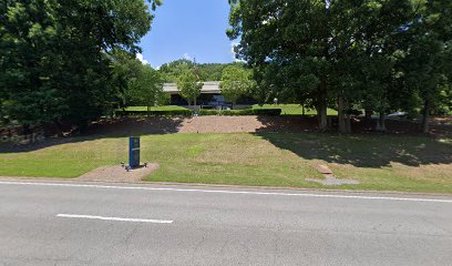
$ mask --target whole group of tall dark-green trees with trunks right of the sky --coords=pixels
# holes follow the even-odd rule
[[[327,108],[350,115],[450,110],[450,0],[229,0],[228,37],[254,70],[254,95],[312,106],[328,130]]]

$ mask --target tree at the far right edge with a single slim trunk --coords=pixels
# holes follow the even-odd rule
[[[451,70],[452,2],[431,0],[422,7],[409,29],[409,53],[404,61],[407,84],[422,102],[422,131],[430,131],[430,113],[448,96]]]

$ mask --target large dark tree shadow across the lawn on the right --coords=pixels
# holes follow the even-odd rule
[[[408,166],[452,163],[452,141],[400,135],[267,133],[256,135],[305,160],[379,168],[392,162]]]

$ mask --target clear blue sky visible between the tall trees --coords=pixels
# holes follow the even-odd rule
[[[234,62],[236,41],[226,35],[228,14],[227,0],[164,0],[137,58],[154,68],[182,58],[196,58],[198,63]]]

